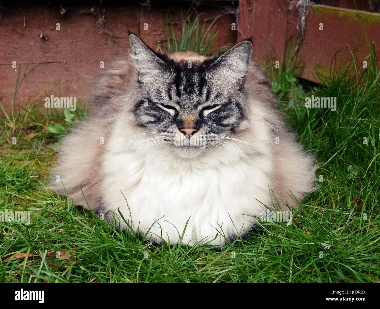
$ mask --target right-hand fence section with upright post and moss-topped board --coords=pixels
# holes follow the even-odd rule
[[[319,82],[315,69],[329,74],[331,61],[339,52],[336,65],[344,66],[351,58],[351,50],[356,51],[358,67],[369,54],[370,42],[376,44],[380,59],[380,14],[351,8],[347,1],[334,1],[346,8],[307,5],[304,38],[299,45],[300,77]],[[287,44],[298,39],[298,24],[302,17],[296,8],[297,1],[288,0],[241,0],[238,14],[238,40],[253,37],[253,57],[262,62],[283,61],[291,53],[294,45]],[[358,2],[358,8],[366,8]],[[323,30],[321,29],[323,25]]]

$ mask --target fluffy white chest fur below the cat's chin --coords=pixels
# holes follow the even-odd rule
[[[189,161],[165,147],[130,149],[122,135],[114,131],[103,157],[104,206],[120,210],[135,231],[154,241],[223,244],[249,230],[252,215],[269,204],[270,154],[242,155],[231,147]],[[221,162],[221,156],[228,159]]]

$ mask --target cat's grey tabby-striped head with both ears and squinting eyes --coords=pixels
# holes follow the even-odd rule
[[[243,78],[251,40],[219,57],[204,57],[193,52],[160,54],[133,33],[129,39],[139,72],[132,99],[140,127],[182,158],[220,147],[223,139],[236,134],[247,112]]]

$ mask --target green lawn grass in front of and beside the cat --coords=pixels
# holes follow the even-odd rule
[[[323,181],[292,224],[262,222],[247,239],[225,247],[154,246],[40,190],[62,131],[49,128],[67,129],[72,117],[41,112],[38,102],[7,113],[0,120],[0,211],[30,211],[31,222],[0,222],[0,282],[379,282],[380,86],[374,55],[372,49],[368,68],[357,74],[351,61],[320,76],[325,86],[294,78],[292,61],[266,69],[289,128],[317,156]],[[304,97],[311,94],[337,97],[337,111],[306,109]],[[81,109],[76,116],[85,114]],[[325,252],[321,242],[332,247]],[[69,258],[54,259],[59,251]],[[4,262],[19,253],[26,257]]]

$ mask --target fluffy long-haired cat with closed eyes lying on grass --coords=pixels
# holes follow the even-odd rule
[[[121,228],[151,241],[190,245],[225,244],[312,191],[313,159],[284,128],[251,40],[219,57],[129,40],[62,141],[55,190],[108,220],[120,211]]]

